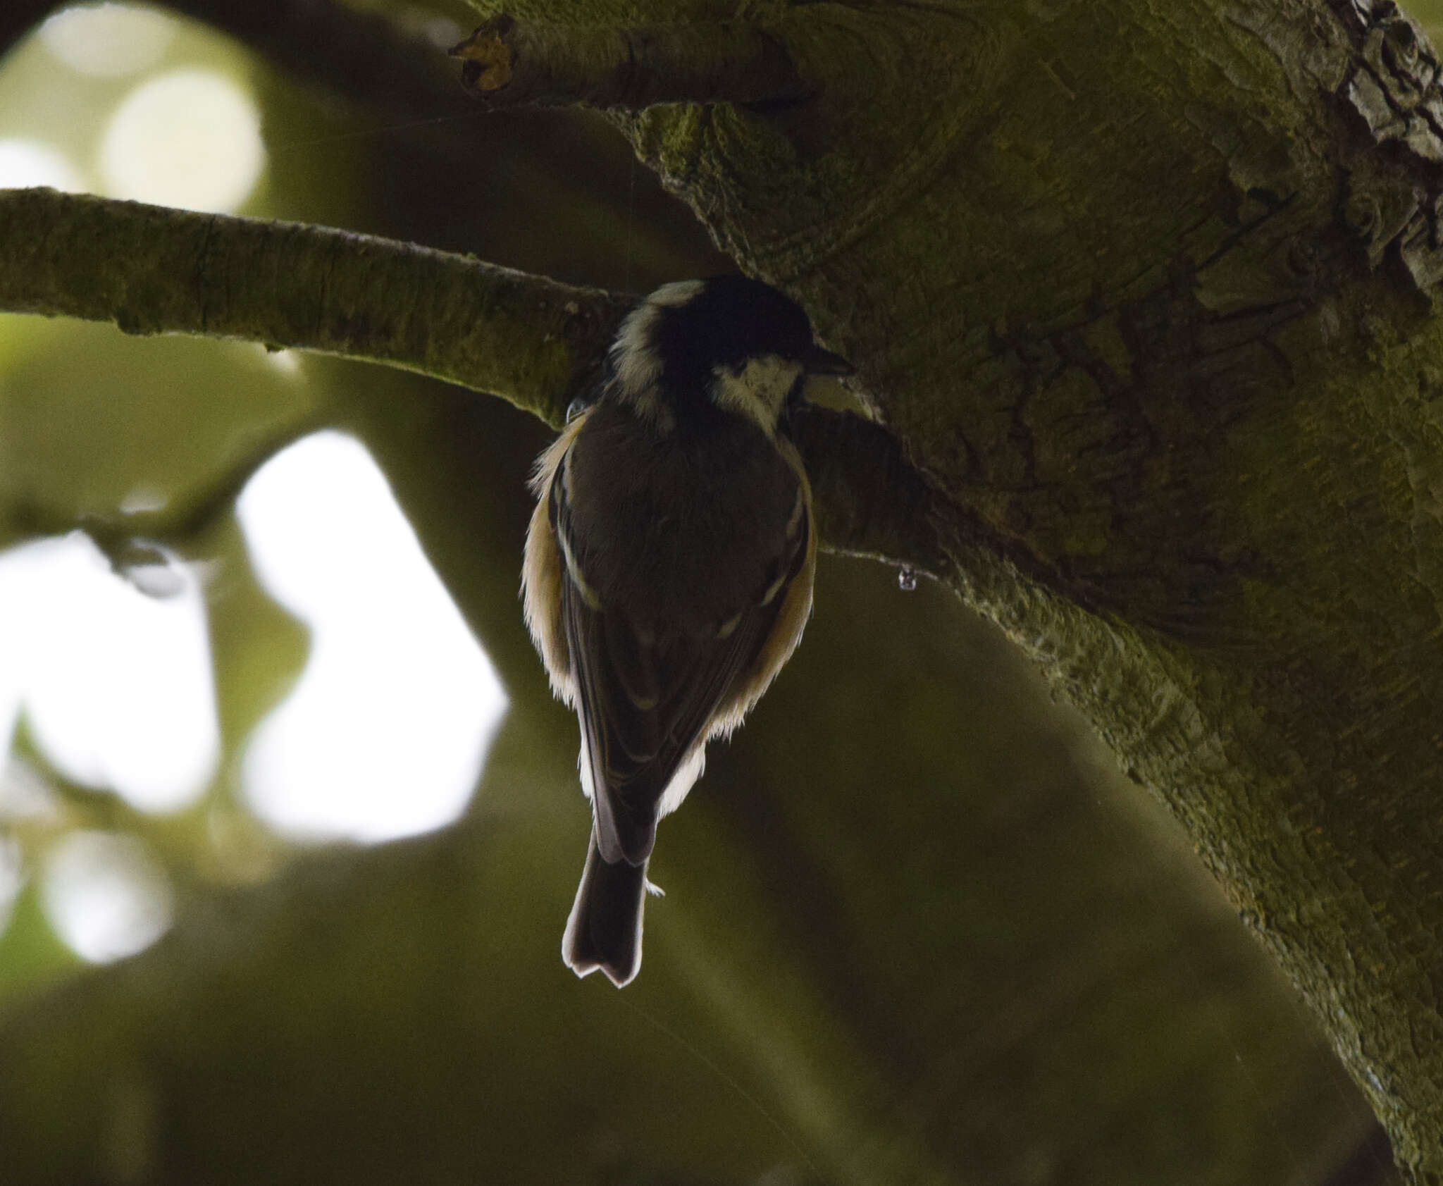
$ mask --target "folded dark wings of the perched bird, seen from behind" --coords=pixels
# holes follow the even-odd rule
[[[658,805],[677,769],[758,664],[786,587],[808,554],[810,524],[797,517],[775,574],[732,618],[697,633],[658,636],[603,605],[576,560],[566,466],[548,492],[551,530],[561,551],[561,616],[576,674],[583,779],[608,861],[639,864],[651,854]]]

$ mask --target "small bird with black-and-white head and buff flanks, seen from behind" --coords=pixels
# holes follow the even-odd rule
[[[595,398],[537,460],[527,626],[582,726],[592,845],[561,958],[641,968],[657,821],[791,658],[817,531],[788,433],[847,375],[794,300],[743,276],[665,284],[622,322]]]

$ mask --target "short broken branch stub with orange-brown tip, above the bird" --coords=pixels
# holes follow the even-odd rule
[[[785,102],[807,94],[779,42],[746,25],[608,29],[488,20],[452,49],[492,107],[639,111],[662,102]]]

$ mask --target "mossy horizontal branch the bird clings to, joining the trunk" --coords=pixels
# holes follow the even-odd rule
[[[596,381],[633,300],[323,227],[0,192],[0,309],[382,362],[553,427]],[[831,550],[944,568],[944,505],[889,433],[815,407],[798,442]]]

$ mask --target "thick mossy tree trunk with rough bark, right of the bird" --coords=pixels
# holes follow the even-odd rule
[[[1166,799],[1443,1180],[1431,48],[1365,0],[773,33],[811,105],[655,108],[635,143],[861,364],[952,502],[945,579]]]

